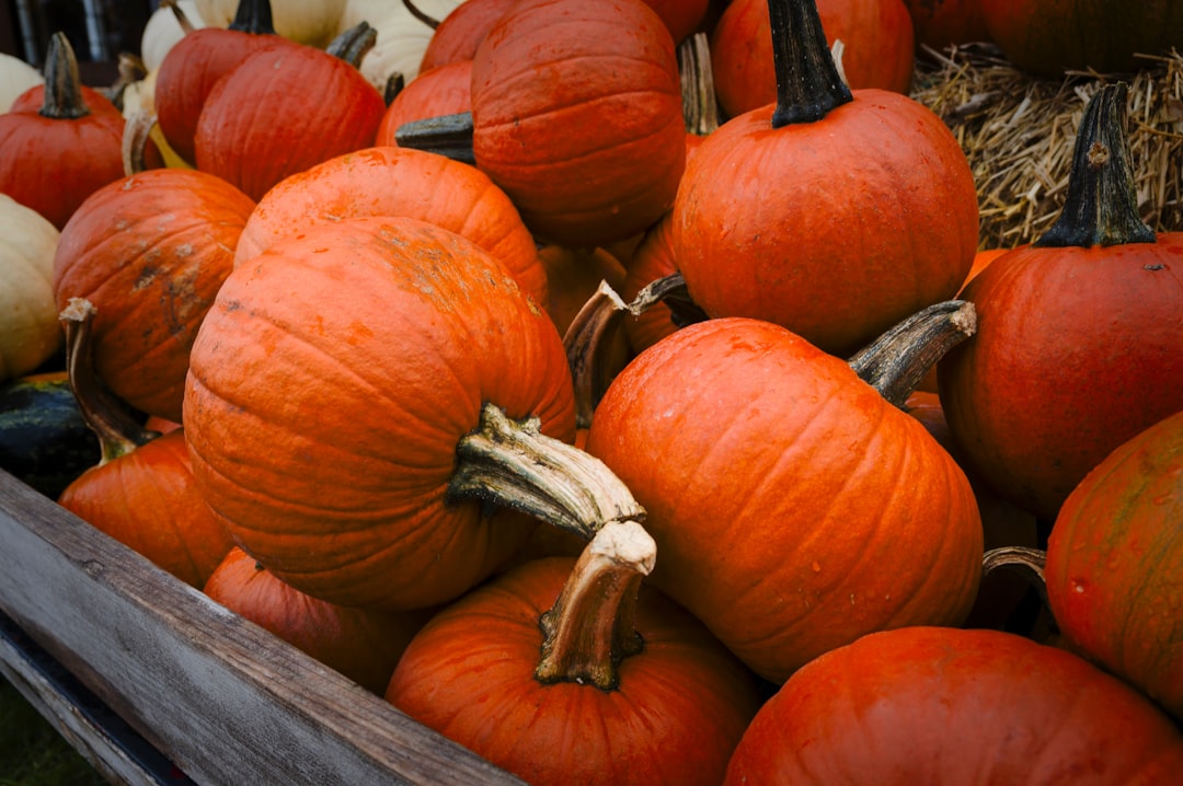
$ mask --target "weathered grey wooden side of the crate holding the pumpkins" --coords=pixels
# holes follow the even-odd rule
[[[112,782],[522,784],[4,470],[0,611],[0,671]]]

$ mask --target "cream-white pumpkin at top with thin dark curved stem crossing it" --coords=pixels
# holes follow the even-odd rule
[[[442,21],[463,1],[414,0],[414,5],[435,21]],[[401,73],[403,83],[411,84],[419,76],[419,64],[435,28],[415,18],[402,0],[347,0],[337,33],[362,21],[377,31],[374,48],[362,58],[362,74],[380,92],[386,91],[386,82],[393,73]]]

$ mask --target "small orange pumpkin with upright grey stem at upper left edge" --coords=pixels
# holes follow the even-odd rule
[[[123,116],[91,111],[82,96],[78,60],[63,33],[50,39],[39,111],[0,115],[0,193],[62,229],[90,194],[123,176]],[[32,87],[31,90],[39,90]],[[149,165],[162,162],[155,145]]]

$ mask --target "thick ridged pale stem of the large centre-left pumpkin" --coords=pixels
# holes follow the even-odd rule
[[[447,495],[522,511],[584,540],[608,521],[645,518],[602,461],[543,434],[537,417],[513,421],[491,403],[481,408],[477,429],[457,444]]]

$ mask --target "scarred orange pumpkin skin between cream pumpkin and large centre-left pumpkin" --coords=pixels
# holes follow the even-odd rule
[[[153,169],[103,187],[63,228],[58,310],[93,304],[96,369],[132,407],[181,421],[189,347],[253,209],[213,175]]]

